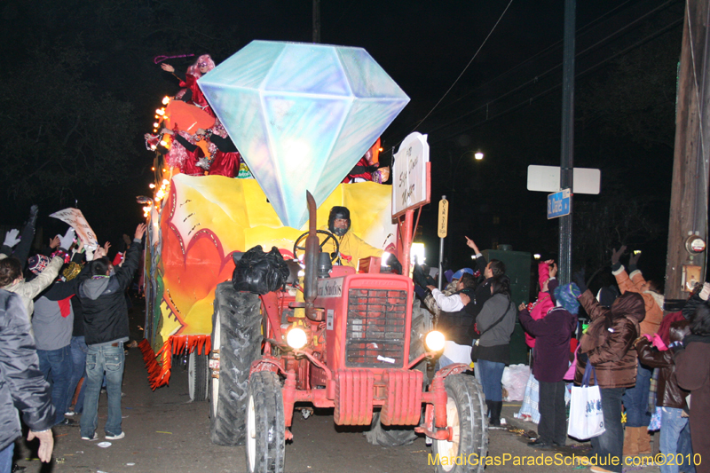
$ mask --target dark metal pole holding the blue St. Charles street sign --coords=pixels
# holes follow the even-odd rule
[[[562,62],[562,153],[560,189],[572,189],[574,168],[574,28],[576,0],[564,0],[564,48]],[[572,189],[572,193],[574,190]],[[572,196],[570,213],[559,223],[559,280],[570,282],[572,275]]]

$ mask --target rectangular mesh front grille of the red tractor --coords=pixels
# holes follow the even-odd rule
[[[402,367],[406,291],[350,289],[345,359],[347,367]]]

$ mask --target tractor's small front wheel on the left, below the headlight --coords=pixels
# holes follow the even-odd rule
[[[279,375],[257,371],[249,380],[247,471],[282,473],[286,453],[286,421]]]

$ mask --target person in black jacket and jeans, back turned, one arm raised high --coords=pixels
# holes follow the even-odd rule
[[[136,227],[134,240],[123,264],[114,268],[106,257],[91,262],[91,279],[79,284],[77,296],[82,301],[84,337],[88,346],[86,354],[86,392],[81,422],[82,438],[98,438],[96,434],[99,411],[99,392],[106,373],[108,419],[106,438],[124,437],[121,429],[121,384],[125,353],[123,343],[128,342],[128,308],[123,296],[138,270],[141,239],[146,225]]]

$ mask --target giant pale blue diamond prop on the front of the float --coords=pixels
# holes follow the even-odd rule
[[[362,48],[253,41],[198,81],[284,225],[308,220],[409,98]]]

